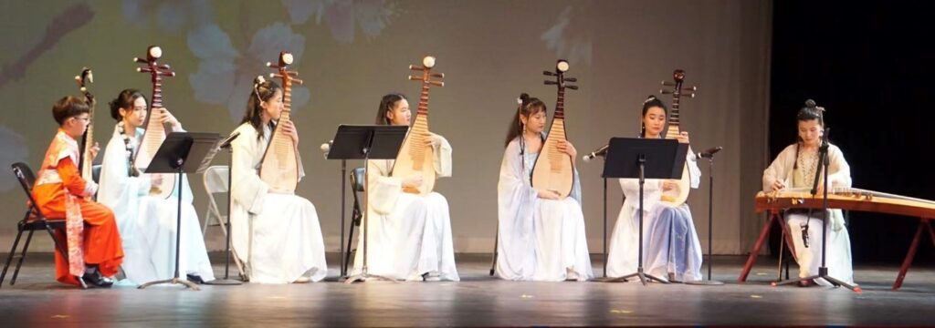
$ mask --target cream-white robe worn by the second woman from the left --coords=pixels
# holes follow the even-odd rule
[[[260,179],[260,162],[271,133],[268,127],[264,130],[258,139],[252,125],[244,123],[231,143],[232,246],[251,282],[290,283],[303,276],[322,280],[328,267],[314,205],[293,194],[271,193]],[[305,175],[301,163],[299,159],[300,178]]]

